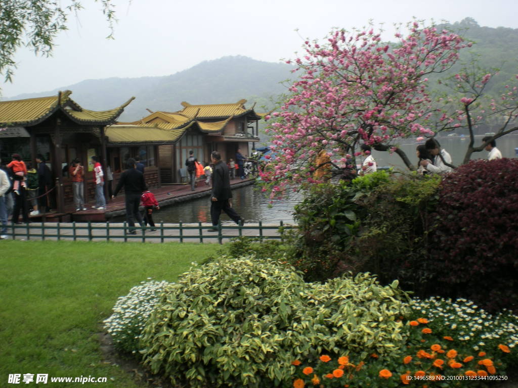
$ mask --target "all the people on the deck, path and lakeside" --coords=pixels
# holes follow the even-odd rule
[[[496,147],[496,141],[491,137],[484,137],[485,151],[488,152],[488,159],[499,159],[502,154]],[[342,179],[351,180],[357,175],[369,174],[377,171],[377,163],[371,155],[371,147],[367,144],[360,146],[361,154],[364,157],[362,167],[356,170],[352,161],[348,160],[348,167],[343,169]],[[417,172],[419,174],[440,174],[451,172],[454,168],[450,154],[441,148],[436,139],[428,139],[425,144],[418,145],[416,155],[419,159]],[[236,176],[244,179],[249,172],[257,171],[257,157],[247,158],[238,150],[234,158],[229,158],[227,162],[221,160],[221,154],[214,151],[210,155],[210,163],[203,166],[194,156],[194,152],[189,152],[189,157],[185,160],[185,166],[189,173],[191,190],[195,190],[198,182],[205,182],[206,186],[212,186],[210,214],[213,228],[209,231],[217,231],[216,227],[222,212],[225,212],[233,221],[243,225],[244,219],[237,214],[232,207],[232,191],[230,180]],[[0,238],[7,237],[7,221],[11,218],[12,223],[29,222],[29,216],[37,216],[41,213],[49,212],[55,208],[54,196],[49,193],[54,189],[52,174],[47,166],[44,156],[37,155],[36,165],[25,163],[19,154],[12,154],[11,161],[0,168]],[[330,169],[329,157],[325,150],[316,157],[317,165],[315,176],[325,174]],[[105,210],[106,199],[104,196],[105,173],[100,165],[99,158],[91,158],[93,165],[93,178],[95,182],[95,205],[96,210]],[[106,178],[108,181],[109,198],[115,198],[124,188],[126,219],[130,227],[130,233],[136,234],[135,221],[140,227],[147,227],[155,230],[153,221],[153,211],[159,210],[159,202],[149,191],[144,179],[145,166],[137,158],[127,160],[127,170],[124,171],[112,193],[111,182],[113,174],[107,166]],[[67,167],[73,187],[74,206],[76,212],[87,210],[84,201],[84,166],[79,159],[74,159]],[[140,204],[144,207],[144,212],[139,212]]]

